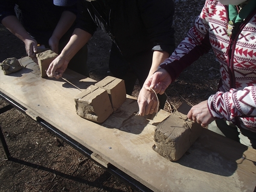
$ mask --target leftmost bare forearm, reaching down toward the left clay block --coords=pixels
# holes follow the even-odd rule
[[[3,18],[2,24],[20,40],[32,39],[16,16],[10,15]]]

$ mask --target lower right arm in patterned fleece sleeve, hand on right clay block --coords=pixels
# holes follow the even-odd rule
[[[187,116],[202,127],[215,119],[233,121],[236,117],[241,117],[245,126],[250,128],[253,125],[254,128],[249,119],[256,116],[255,94],[255,86],[245,87],[243,90],[218,91],[208,100],[193,106]],[[254,122],[254,118],[251,121]]]

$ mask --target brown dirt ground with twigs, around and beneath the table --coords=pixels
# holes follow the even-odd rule
[[[176,0],[174,27],[177,44],[201,12],[204,0]],[[97,31],[88,43],[90,77],[97,81],[110,75],[108,69],[111,41]],[[24,44],[0,25],[0,61],[25,56]],[[166,90],[172,112],[182,102],[196,105],[215,93],[220,78],[213,52],[188,67]],[[135,86],[137,97],[140,87]],[[7,105],[0,101],[0,108]],[[170,106],[172,109],[170,109]],[[0,115],[6,143],[13,159],[6,161],[0,148],[0,192],[132,192],[130,186],[102,169],[84,155],[57,139],[15,108]]]

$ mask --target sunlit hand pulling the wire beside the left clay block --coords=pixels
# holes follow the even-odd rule
[[[49,65],[49,68],[46,72],[47,76],[59,79],[67,69],[68,63],[69,61],[67,61],[62,55],[58,55],[58,57],[55,58]]]

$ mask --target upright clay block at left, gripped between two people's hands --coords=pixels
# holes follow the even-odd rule
[[[52,50],[47,50],[41,53],[36,54],[38,59],[38,65],[41,71],[41,77],[47,76],[46,70],[48,69],[51,62],[58,57],[58,54],[53,52]]]

